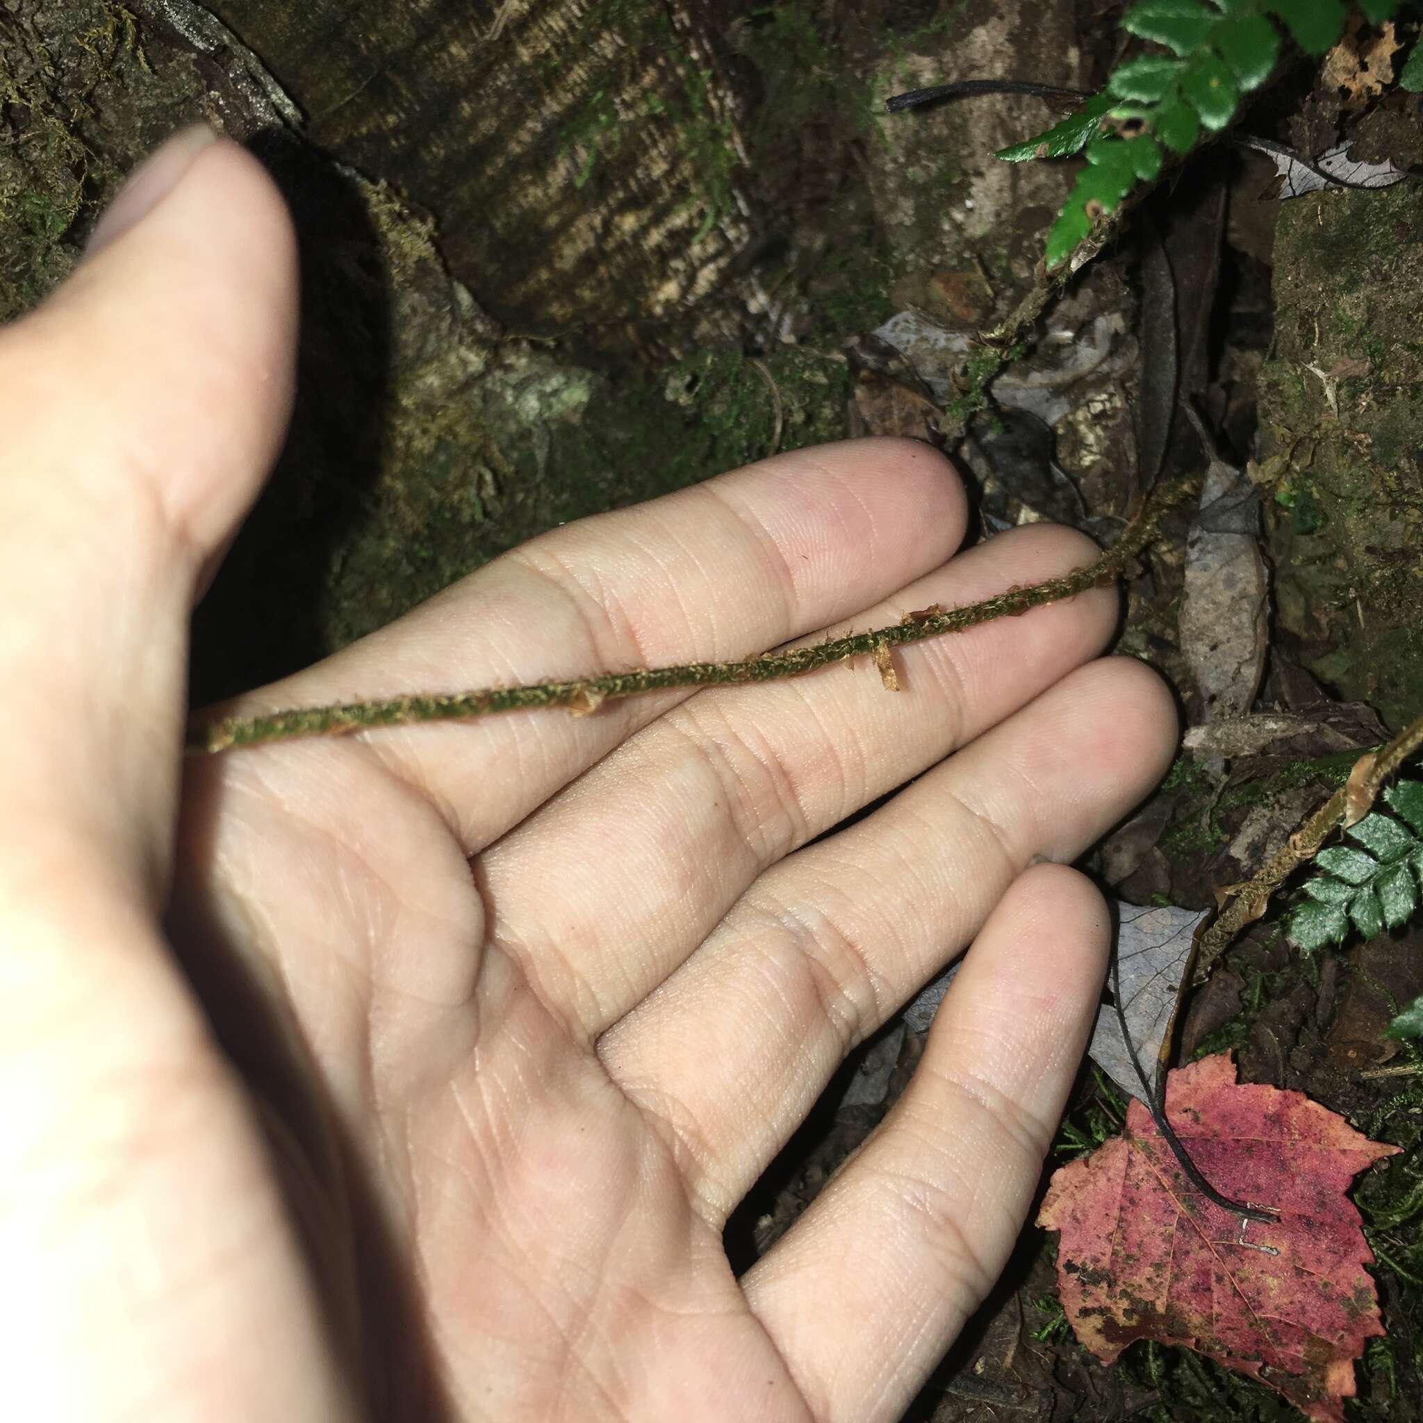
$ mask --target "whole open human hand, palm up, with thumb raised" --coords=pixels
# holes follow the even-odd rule
[[[1101,982],[1097,892],[1033,861],[1174,744],[1161,683],[1091,660],[1116,596],[906,649],[898,696],[834,667],[184,767],[295,263],[239,148],[154,162],[0,333],[14,1416],[896,1417],[1007,1257]],[[229,710],[747,656],[1093,555],[1036,527],[955,558],[963,524],[924,445],[781,455]],[[729,1212],[970,941],[908,1091],[734,1278]]]

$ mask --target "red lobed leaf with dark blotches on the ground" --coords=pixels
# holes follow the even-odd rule
[[[1201,1195],[1133,1101],[1123,1136],[1053,1174],[1037,1217],[1062,1232],[1057,1289],[1077,1338],[1103,1363],[1136,1339],[1183,1343],[1342,1423],[1353,1360],[1383,1333],[1343,1192],[1399,1148],[1303,1093],[1238,1084],[1229,1053],[1170,1074],[1167,1118],[1218,1191],[1279,1220]]]

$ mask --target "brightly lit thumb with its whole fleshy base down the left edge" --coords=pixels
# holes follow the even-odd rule
[[[188,132],[0,332],[0,1360],[44,1399],[17,1416],[357,1416],[155,918],[194,586],[276,451],[293,326],[280,198]]]

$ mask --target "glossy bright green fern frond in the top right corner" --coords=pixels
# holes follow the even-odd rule
[[[1379,24],[1402,0],[1358,3]],[[1281,28],[1308,54],[1323,54],[1346,18],[1342,0],[1141,0],[1128,10],[1123,28],[1171,53],[1127,60],[1074,114],[996,155],[1023,162],[1086,149],[1087,166],[1047,233],[1047,266],[1066,260],[1099,218],[1160,172],[1163,149],[1185,155],[1202,131],[1218,134],[1234,120],[1244,95],[1275,68]],[[1405,67],[1405,87],[1414,70],[1423,87],[1420,53],[1423,41]]]

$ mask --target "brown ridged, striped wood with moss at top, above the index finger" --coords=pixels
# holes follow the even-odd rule
[[[750,239],[721,0],[216,0],[312,142],[440,215],[514,330],[620,342]],[[723,11],[726,11],[723,14]]]

